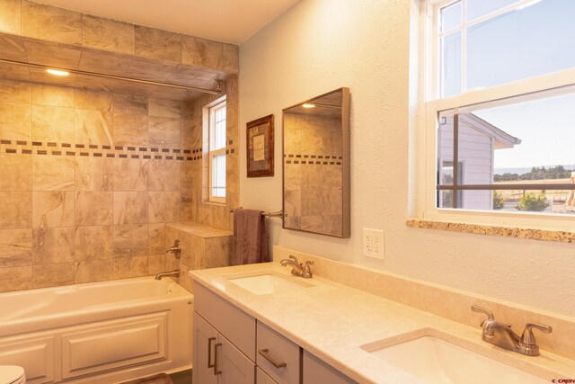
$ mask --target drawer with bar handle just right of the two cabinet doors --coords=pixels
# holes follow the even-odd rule
[[[260,322],[257,334],[258,367],[279,384],[299,384],[299,346]]]

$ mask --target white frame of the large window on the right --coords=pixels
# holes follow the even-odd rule
[[[420,93],[420,126],[423,133],[422,143],[425,156],[423,174],[419,184],[418,200],[420,201],[419,214],[422,219],[455,223],[479,224],[486,226],[503,226],[517,228],[540,228],[548,230],[572,231],[573,218],[569,216],[541,215],[528,212],[499,212],[484,210],[449,210],[436,207],[437,198],[437,113],[450,109],[461,108],[478,103],[499,101],[518,95],[528,95],[546,90],[560,90],[562,87],[575,85],[575,68],[554,72],[543,76],[535,76],[504,85],[494,85],[489,88],[473,89],[452,97],[438,98],[440,55],[438,55],[438,39],[435,32],[437,18],[432,12],[438,9],[439,4],[454,3],[454,0],[429,0],[426,6],[421,7],[420,41],[423,41],[420,53],[423,57],[422,67],[424,78]],[[523,0],[521,4],[528,4],[530,0]],[[505,12],[513,8],[512,4],[501,10]],[[491,15],[491,13],[490,13]],[[435,20],[434,20],[435,19]]]

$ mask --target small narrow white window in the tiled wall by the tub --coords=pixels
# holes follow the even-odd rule
[[[208,105],[209,201],[226,202],[226,99]]]

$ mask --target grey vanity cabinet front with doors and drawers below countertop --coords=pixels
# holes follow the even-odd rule
[[[194,287],[192,382],[355,383],[217,293]]]

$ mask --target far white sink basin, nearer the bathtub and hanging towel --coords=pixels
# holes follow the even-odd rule
[[[230,281],[243,288],[249,290],[254,295],[270,295],[279,291],[289,291],[297,288],[312,287],[313,284],[302,281],[303,278],[296,276],[284,276],[279,273],[258,272],[251,275],[226,275],[224,276],[227,281]],[[299,280],[296,280],[299,279]]]

